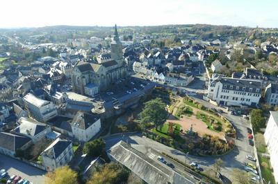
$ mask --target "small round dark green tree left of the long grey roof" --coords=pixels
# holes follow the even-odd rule
[[[102,138],[97,138],[90,142],[86,142],[83,147],[83,154],[88,154],[89,156],[97,157],[104,155],[105,153],[105,142]]]

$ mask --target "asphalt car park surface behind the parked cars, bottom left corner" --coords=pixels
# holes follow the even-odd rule
[[[44,171],[2,154],[0,154],[0,169],[6,169],[9,176],[22,176],[34,184],[44,183]]]

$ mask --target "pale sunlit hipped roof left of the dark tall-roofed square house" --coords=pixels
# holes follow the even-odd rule
[[[27,136],[36,136],[45,129],[47,129],[47,125],[33,120],[31,118],[22,117],[19,118],[17,122],[20,125],[14,129],[15,132],[20,134],[26,134]]]

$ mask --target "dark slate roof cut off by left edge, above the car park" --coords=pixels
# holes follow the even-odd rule
[[[18,136],[6,132],[0,133],[0,147],[3,147],[4,149],[8,149],[10,151],[16,151],[17,149],[22,148],[30,140],[31,138],[27,138],[24,136]]]

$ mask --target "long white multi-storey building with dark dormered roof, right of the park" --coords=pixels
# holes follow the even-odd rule
[[[212,78],[208,84],[208,99],[225,106],[256,106],[261,98],[261,81]]]

